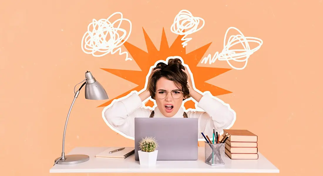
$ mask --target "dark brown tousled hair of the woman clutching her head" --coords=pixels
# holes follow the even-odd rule
[[[187,75],[183,71],[185,70],[185,67],[182,65],[180,59],[170,59],[168,60],[168,64],[160,62],[153,70],[155,69],[160,70],[155,71],[151,75],[150,80],[148,80],[148,90],[152,99],[155,99],[156,83],[161,77],[174,81],[176,87],[183,92],[183,100],[190,97],[187,85]]]

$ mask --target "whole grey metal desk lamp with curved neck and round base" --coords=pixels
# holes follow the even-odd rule
[[[78,89],[78,91],[75,92],[75,87],[85,81],[82,86]],[[69,114],[71,113],[72,107],[74,105],[74,102],[76,98],[78,97],[78,94],[81,90],[81,88],[85,85],[85,98],[90,100],[105,100],[109,99],[107,92],[104,90],[102,85],[92,76],[91,72],[86,71],[85,73],[85,79],[82,82],[78,83],[74,87],[74,99],[72,102],[71,107],[69,108],[68,115],[65,122],[64,127],[64,133],[63,133],[63,145],[62,145],[62,156],[56,158],[55,164],[78,164],[81,162],[86,162],[90,159],[88,155],[83,154],[73,154],[73,155],[65,155],[64,152],[64,145],[65,145],[65,133],[66,133],[66,127],[68,122]],[[54,165],[55,165],[54,164]]]

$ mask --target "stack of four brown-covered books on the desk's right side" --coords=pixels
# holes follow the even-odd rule
[[[258,159],[258,136],[248,130],[224,129],[225,153],[231,159]]]

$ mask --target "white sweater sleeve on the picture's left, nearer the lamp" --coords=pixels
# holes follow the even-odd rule
[[[134,137],[134,118],[149,117],[150,109],[143,107],[138,94],[133,93],[129,97],[116,101],[104,112],[108,123],[123,134]]]

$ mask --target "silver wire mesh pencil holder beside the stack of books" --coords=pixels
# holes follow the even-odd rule
[[[205,142],[205,162],[211,166],[224,165],[224,143],[210,144]]]

